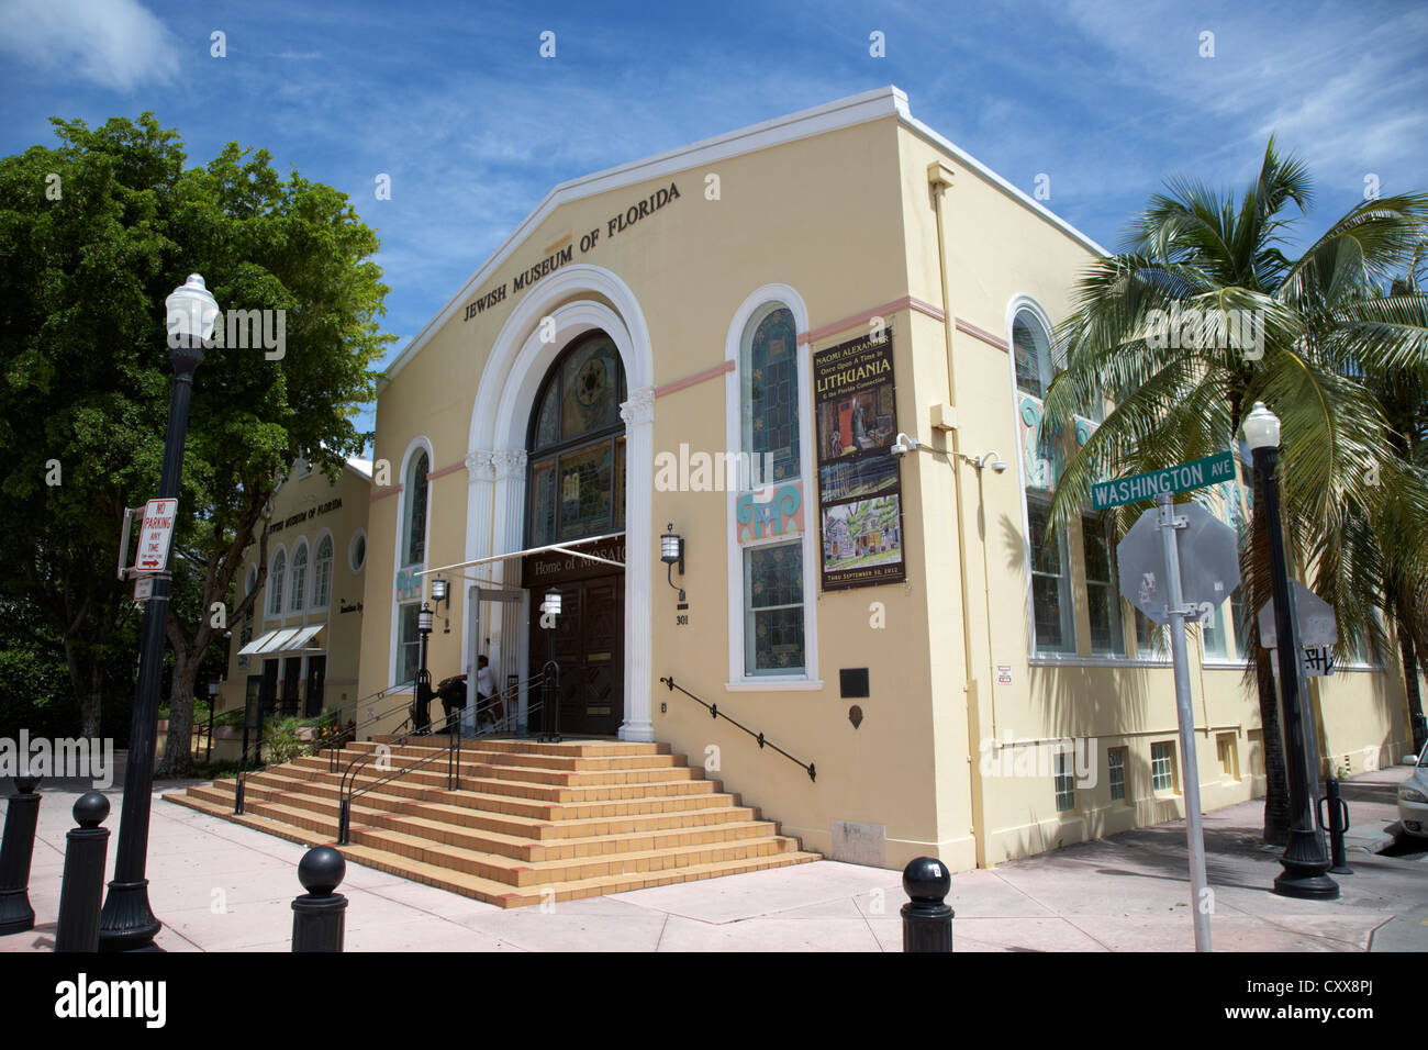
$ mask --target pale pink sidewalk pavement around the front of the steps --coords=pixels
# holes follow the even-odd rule
[[[1345,783],[1354,827],[1351,876],[1337,901],[1269,893],[1279,850],[1259,844],[1262,800],[1205,814],[1211,919],[1218,951],[1428,950],[1428,851],[1378,856],[1392,841],[1395,787],[1407,767]],[[169,951],[288,951],[291,900],[306,851],[261,831],[159,799],[149,837],[150,903]],[[64,833],[86,786],[41,786],[30,871],[36,929],[0,937],[0,951],[54,944]],[[113,876],[121,787],[114,811]],[[9,793],[7,793],[9,796]],[[1424,843],[1428,847],[1428,841]],[[1160,824],[997,869],[952,876],[957,951],[1190,951],[1185,827]],[[608,897],[503,910],[347,866],[340,889],[348,951],[900,951],[901,873],[835,861],[728,876]]]

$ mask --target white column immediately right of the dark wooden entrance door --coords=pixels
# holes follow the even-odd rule
[[[650,581],[654,557],[654,387],[630,391],[620,406],[625,421],[625,660],[621,740],[654,740],[654,647]]]

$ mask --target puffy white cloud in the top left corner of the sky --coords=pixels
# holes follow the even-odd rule
[[[119,91],[169,83],[178,70],[178,41],[139,0],[10,0],[0,53]]]

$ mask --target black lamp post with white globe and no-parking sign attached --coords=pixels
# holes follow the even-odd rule
[[[169,433],[159,474],[159,499],[177,499],[183,480],[183,446],[188,431],[188,401],[193,373],[203,363],[203,344],[213,334],[218,303],[204,287],[203,277],[188,280],[164,300],[169,323],[169,360],[174,381],[169,401]],[[164,663],[164,621],[169,617],[170,576],[167,566],[154,574],[154,590],[144,604],[139,644],[139,683],[134,687],[134,716],[129,730],[129,760],[124,766],[124,801],[119,813],[119,846],[114,879],[100,914],[101,951],[157,951],[154,934],[161,923],[149,906],[149,807],[154,781],[157,746],[159,681]]]

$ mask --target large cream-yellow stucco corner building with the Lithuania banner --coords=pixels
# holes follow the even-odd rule
[[[487,656],[520,714],[553,646],[567,736],[668,743],[834,859],[962,870],[1174,819],[1155,629],[1090,511],[1041,541],[1051,330],[1100,253],[892,87],[555,187],[387,371],[331,660],[360,651],[357,699],[408,681],[441,577],[434,679]],[[1191,639],[1207,809],[1262,791],[1240,616]],[[1315,689],[1327,760],[1408,749],[1394,669]]]

